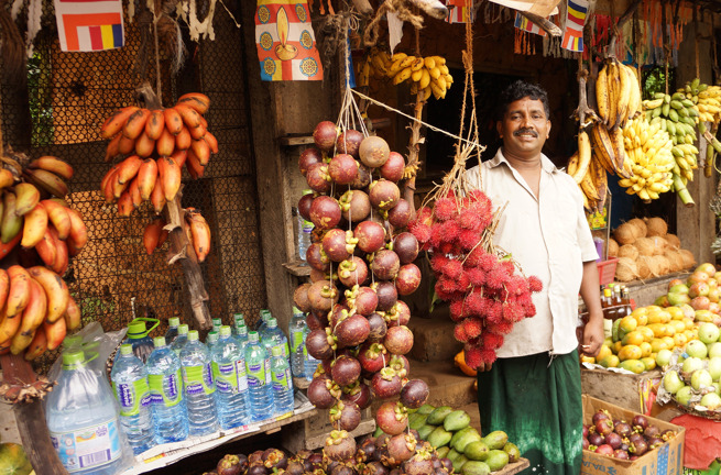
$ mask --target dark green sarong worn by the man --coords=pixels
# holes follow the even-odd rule
[[[549,364],[550,362],[550,364]],[[483,435],[509,434],[521,456],[522,472],[578,475],[581,471],[583,407],[578,351],[499,358],[478,374],[478,408]]]

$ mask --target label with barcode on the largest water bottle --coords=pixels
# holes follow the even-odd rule
[[[68,432],[51,431],[50,439],[68,473],[107,465],[122,455],[114,419]]]

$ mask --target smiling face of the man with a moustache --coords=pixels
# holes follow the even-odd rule
[[[509,104],[498,131],[505,154],[536,158],[550,133],[550,121],[540,100],[525,97]]]

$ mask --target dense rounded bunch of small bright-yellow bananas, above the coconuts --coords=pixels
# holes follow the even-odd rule
[[[623,129],[623,144],[633,175],[620,179],[619,185],[629,195],[649,201],[671,188],[671,170],[677,166],[671,154],[674,143],[659,123],[652,125],[643,115],[632,120]]]

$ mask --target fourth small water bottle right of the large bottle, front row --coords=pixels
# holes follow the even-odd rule
[[[245,357],[227,325],[220,327],[220,338],[212,349],[212,376],[216,379],[220,429],[248,423]]]

